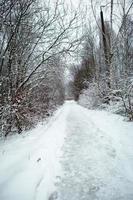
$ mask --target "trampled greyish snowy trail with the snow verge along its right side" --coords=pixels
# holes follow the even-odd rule
[[[73,105],[67,120],[58,200],[133,199],[133,136],[125,140],[126,125],[116,115]],[[130,133],[132,128],[131,124]]]

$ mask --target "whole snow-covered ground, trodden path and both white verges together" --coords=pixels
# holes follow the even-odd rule
[[[133,200],[133,123],[66,102],[0,142],[0,200]]]

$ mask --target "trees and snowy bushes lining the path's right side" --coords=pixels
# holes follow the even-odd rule
[[[91,2],[92,3],[92,2]],[[71,67],[72,93],[75,100],[88,108],[114,106],[133,120],[133,3],[120,4],[119,27],[113,29],[113,1],[108,4],[110,20],[101,7],[96,26],[84,31],[80,63]],[[93,9],[93,5],[91,6]],[[93,10],[94,17],[95,13]]]

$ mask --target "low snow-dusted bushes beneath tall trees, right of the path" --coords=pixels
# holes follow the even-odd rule
[[[79,104],[89,108],[102,108],[110,112],[126,115],[133,120],[133,85],[130,83],[123,89],[110,89],[101,81],[88,83],[88,88],[82,90]]]

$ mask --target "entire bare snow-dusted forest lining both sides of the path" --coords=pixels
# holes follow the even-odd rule
[[[30,129],[68,97],[133,120],[133,3],[74,4],[1,0],[1,136]]]

